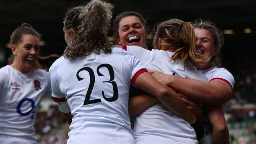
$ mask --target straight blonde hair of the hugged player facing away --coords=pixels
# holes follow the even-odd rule
[[[158,42],[158,38],[162,38],[161,44],[165,48],[175,50],[171,60],[180,58],[181,62],[192,60],[199,64],[208,59],[205,55],[197,53],[193,25],[189,22],[170,19],[160,23],[155,32],[153,45]]]

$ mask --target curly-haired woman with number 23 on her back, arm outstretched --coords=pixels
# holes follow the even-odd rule
[[[196,117],[178,94],[155,80],[135,56],[107,41],[113,6],[91,0],[64,18],[63,57],[50,67],[53,100],[70,124],[68,144],[135,144],[130,128],[130,84],[155,95],[190,123]]]

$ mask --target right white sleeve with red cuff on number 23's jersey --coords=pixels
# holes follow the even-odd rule
[[[124,51],[123,51],[124,52]],[[130,55],[130,53],[123,53],[124,62],[130,66],[131,69],[131,84],[135,84],[137,77],[144,72],[148,72],[147,69],[141,64],[139,59],[137,59],[134,55]]]

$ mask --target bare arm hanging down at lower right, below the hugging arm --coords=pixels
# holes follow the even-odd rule
[[[213,144],[229,144],[229,129],[221,105],[205,105],[203,109],[213,126]]]

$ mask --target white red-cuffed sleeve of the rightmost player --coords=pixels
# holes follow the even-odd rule
[[[211,80],[215,80],[215,79],[223,80],[233,90],[233,87],[235,85],[235,79],[234,79],[233,75],[231,73],[229,73],[228,70],[226,70],[224,68],[215,69],[215,70],[209,71],[208,76],[210,76],[210,79],[208,80],[208,82],[210,82]]]

